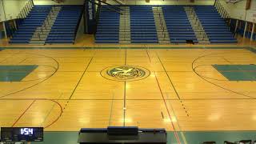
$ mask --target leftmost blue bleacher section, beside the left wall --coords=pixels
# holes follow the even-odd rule
[[[18,30],[10,39],[10,43],[29,43],[37,27],[42,26],[51,6],[34,6],[30,14],[18,26]]]

